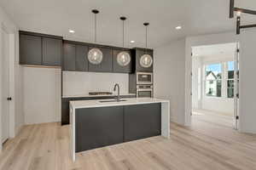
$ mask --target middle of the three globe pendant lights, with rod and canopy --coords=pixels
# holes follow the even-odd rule
[[[123,48],[125,48],[125,20],[126,18],[124,16],[120,17],[120,20],[123,21]],[[129,65],[131,62],[131,56],[129,53],[122,51],[117,55],[117,62],[121,66]]]

